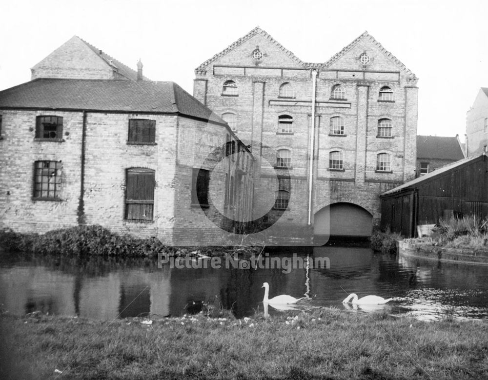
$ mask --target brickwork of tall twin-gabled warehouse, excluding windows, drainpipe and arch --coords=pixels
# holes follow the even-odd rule
[[[265,53],[256,64],[253,49]],[[304,226],[308,220],[308,176],[310,157],[310,114],[312,75],[274,40],[256,35],[196,71],[194,95],[205,100],[214,112],[237,115],[237,135],[252,145],[257,158],[254,187],[255,216],[272,207],[278,189],[273,166],[278,149],[291,151],[290,201],[276,227]],[[366,70],[358,57],[372,58]],[[314,141],[313,214],[334,202],[350,202],[365,208],[378,224],[382,191],[415,177],[417,88],[402,64],[365,38],[326,69],[319,69],[316,81],[316,135]],[[237,96],[223,96],[223,84],[233,80]],[[280,86],[289,82],[292,98],[280,98]],[[204,85],[203,85],[204,83]],[[341,84],[344,100],[331,100],[331,89]],[[383,86],[393,91],[393,101],[380,101]],[[278,116],[293,117],[293,133],[280,134]],[[345,136],[329,136],[330,118],[344,119]],[[378,137],[378,120],[392,120],[392,137]],[[344,170],[329,170],[329,153],[343,153]],[[378,153],[391,157],[391,173],[376,170]],[[281,213],[271,212],[271,221]],[[277,217],[276,217],[277,218]],[[281,227],[280,227],[281,226]]]

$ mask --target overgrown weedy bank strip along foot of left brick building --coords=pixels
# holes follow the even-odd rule
[[[46,232],[20,234],[12,230],[0,231],[0,251],[33,252],[51,255],[104,257],[157,257],[158,253],[185,256],[200,253],[206,256],[224,256],[238,253],[259,253],[259,247],[171,247],[156,237],[135,238],[110,232],[100,225],[77,226]]]

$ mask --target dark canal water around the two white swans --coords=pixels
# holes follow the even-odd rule
[[[232,309],[242,318],[263,313],[262,284],[268,282],[270,298],[307,297],[295,306],[297,310],[335,306],[363,313],[384,309],[420,320],[488,318],[488,266],[407,259],[340,246],[275,249],[263,257],[276,258],[276,264],[293,254],[305,265],[288,270],[278,265],[239,269],[233,264],[226,268],[222,261],[220,267],[177,268],[165,263],[160,268],[157,260],[148,259],[3,256],[0,309],[15,315],[41,311],[111,320],[181,316],[212,305]],[[319,258],[322,267],[313,267]],[[352,307],[342,303],[349,293],[394,300],[382,306]],[[270,306],[268,312],[282,311]]]

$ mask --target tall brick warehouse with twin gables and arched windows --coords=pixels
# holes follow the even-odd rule
[[[251,146],[271,235],[368,236],[379,194],[415,177],[418,79],[367,32],[307,63],[256,27],[195,74],[193,95]]]

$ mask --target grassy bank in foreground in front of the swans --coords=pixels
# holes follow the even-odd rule
[[[3,315],[0,378],[488,378],[484,321],[421,322],[334,308],[267,319],[142,321]]]

